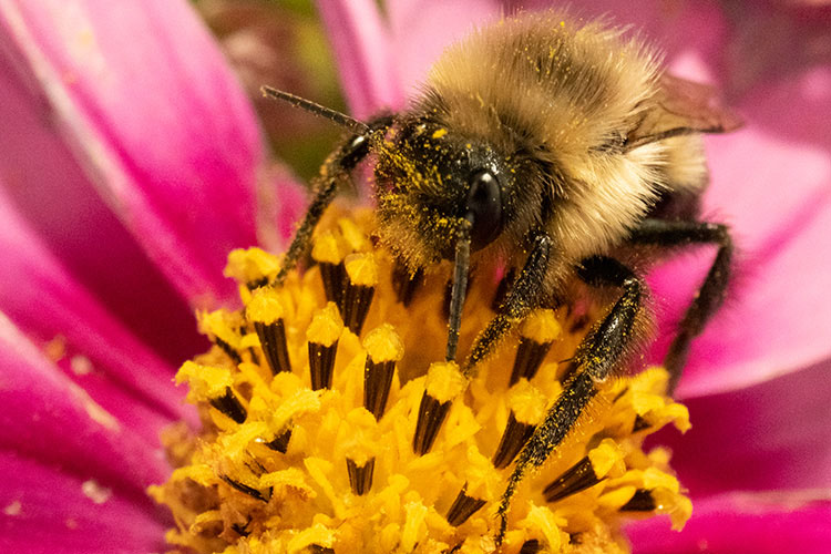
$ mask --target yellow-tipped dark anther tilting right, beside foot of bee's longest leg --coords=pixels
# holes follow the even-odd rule
[[[543,496],[547,502],[556,502],[596,485],[609,473],[616,476],[624,471],[625,464],[619,447],[612,439],[604,439],[588,454],[552,481],[543,491]]]

